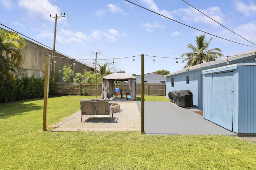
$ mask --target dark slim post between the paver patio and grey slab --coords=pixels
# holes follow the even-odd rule
[[[141,134],[144,131],[144,54],[141,55]]]

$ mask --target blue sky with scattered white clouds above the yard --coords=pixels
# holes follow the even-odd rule
[[[252,44],[256,44],[256,2],[253,0],[186,0],[241,37],[182,0],[130,1],[180,23],[125,0],[1,0],[0,27],[7,29],[5,25],[53,48],[55,20],[50,14],[54,17],[62,13],[63,16],[65,12],[66,16],[57,22],[56,51],[90,66],[95,59],[92,52],[100,51],[97,64],[110,63],[112,71],[139,75],[141,54],[145,55],[145,73],[182,69],[186,63],[182,63],[180,56],[191,52],[187,45],[196,46],[196,36],[202,34],[207,40],[213,38],[209,49],[218,47],[224,56],[256,48]],[[136,56],[135,61],[133,56]],[[155,62],[153,56],[156,56]],[[175,58],[178,58],[178,65]]]

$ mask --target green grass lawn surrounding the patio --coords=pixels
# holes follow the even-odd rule
[[[48,125],[79,111],[81,98],[95,96],[49,98]],[[42,115],[42,98],[0,103],[0,169],[256,169],[256,145],[234,137],[42,131]]]

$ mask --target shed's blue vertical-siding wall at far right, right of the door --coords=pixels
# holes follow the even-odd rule
[[[256,133],[256,66],[238,66],[238,133]]]

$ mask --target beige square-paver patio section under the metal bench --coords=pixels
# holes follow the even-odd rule
[[[52,131],[140,131],[141,119],[135,101],[111,100],[120,104],[120,111],[111,115],[110,122],[107,115],[86,115],[81,121],[80,110],[60,122],[51,125]],[[79,108],[78,108],[79,109]]]

